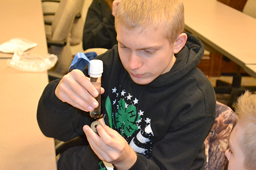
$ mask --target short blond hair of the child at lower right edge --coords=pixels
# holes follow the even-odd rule
[[[244,167],[256,169],[256,94],[246,91],[236,105],[239,116],[238,143],[244,153]]]

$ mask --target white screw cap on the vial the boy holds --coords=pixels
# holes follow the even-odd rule
[[[91,60],[89,67],[90,77],[101,77],[103,72],[103,62],[101,60]]]

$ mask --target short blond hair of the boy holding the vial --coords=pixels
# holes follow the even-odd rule
[[[163,28],[164,37],[173,43],[184,29],[181,0],[122,0],[117,7],[115,26],[126,29]]]

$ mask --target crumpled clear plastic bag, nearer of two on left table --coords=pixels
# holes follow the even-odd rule
[[[42,57],[29,52],[16,51],[12,59],[7,60],[7,65],[23,71],[41,72],[51,69],[57,60],[54,54]]]

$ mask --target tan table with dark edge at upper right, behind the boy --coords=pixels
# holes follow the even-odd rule
[[[256,64],[256,19],[216,0],[183,0],[185,29],[242,67]]]

